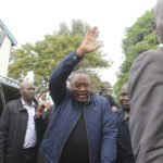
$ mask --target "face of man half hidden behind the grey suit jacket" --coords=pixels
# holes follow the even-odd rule
[[[121,102],[122,108],[125,111],[129,112],[129,99],[128,99],[128,86],[127,86],[127,84],[125,84],[121,89],[120,102]]]

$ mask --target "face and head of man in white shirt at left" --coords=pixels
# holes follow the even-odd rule
[[[24,83],[21,85],[20,92],[24,101],[32,101],[36,95],[36,88],[30,83]]]

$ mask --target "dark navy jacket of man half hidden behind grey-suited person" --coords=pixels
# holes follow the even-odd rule
[[[129,117],[125,120],[125,111],[123,109],[115,112],[115,117],[118,133],[116,163],[135,163],[129,134]]]

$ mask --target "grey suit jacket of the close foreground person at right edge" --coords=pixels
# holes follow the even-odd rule
[[[163,163],[163,51],[140,54],[128,80],[130,136],[137,163]]]

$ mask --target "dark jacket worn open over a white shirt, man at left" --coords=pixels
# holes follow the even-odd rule
[[[35,108],[37,106],[36,103]],[[23,108],[21,98],[4,106],[0,120],[0,161],[21,163],[28,114]]]

